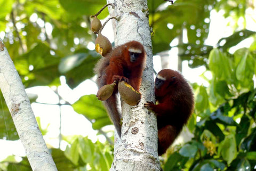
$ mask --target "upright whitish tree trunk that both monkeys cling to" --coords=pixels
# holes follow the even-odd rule
[[[157,124],[154,113],[143,108],[146,101],[155,101],[153,78],[153,52],[148,23],[147,0],[108,0],[115,8],[109,7],[113,20],[115,46],[131,40],[142,43],[147,52],[147,62],[143,71],[138,106],[122,103],[122,137],[116,136],[114,170],[160,170],[157,154]],[[106,35],[107,36],[107,35]]]

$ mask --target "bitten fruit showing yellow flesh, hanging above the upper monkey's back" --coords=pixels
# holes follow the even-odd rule
[[[98,37],[95,40],[95,50],[105,56],[108,52],[112,50],[112,45],[109,42],[108,38],[99,33]]]

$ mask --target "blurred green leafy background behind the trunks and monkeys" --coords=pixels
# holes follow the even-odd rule
[[[90,15],[105,4],[105,0],[0,0],[0,37],[26,88],[58,87],[61,76],[70,88],[92,79],[92,68],[100,56],[90,48],[95,40]],[[255,5],[253,0],[177,0],[173,5],[148,0],[154,54],[180,47],[180,57],[189,61],[190,68],[206,68],[202,77],[209,83],[193,83],[196,106],[188,129],[194,137],[172,146],[162,157],[165,171],[256,170],[256,27],[247,30],[256,24]],[[222,15],[229,28],[228,37],[220,38],[214,46],[205,43],[211,34],[213,12]],[[99,17],[107,15],[105,10]],[[187,37],[187,41],[170,46],[177,37]],[[247,38],[251,45],[243,47]],[[234,52],[237,44],[243,48]],[[211,77],[206,77],[209,73]],[[66,149],[51,149],[58,170],[109,170],[113,134],[102,131],[111,122],[101,102],[95,95],[85,95],[71,104],[54,92],[62,100],[55,105],[71,105],[107,139],[94,143],[79,135],[61,136],[60,131]],[[36,98],[31,102],[37,102]],[[0,138],[18,140],[2,95],[0,99]],[[41,127],[40,118],[38,123]],[[43,135],[49,134],[47,127],[41,130]],[[0,168],[31,170],[26,157],[17,159],[14,155],[6,156]]]

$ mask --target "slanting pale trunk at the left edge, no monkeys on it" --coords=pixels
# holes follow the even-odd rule
[[[33,170],[57,170],[17,70],[0,39],[0,89]]]

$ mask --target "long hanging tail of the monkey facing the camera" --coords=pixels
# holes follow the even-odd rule
[[[111,95],[109,99],[103,101],[103,104],[108,111],[108,115],[113,122],[119,137],[121,137],[121,115],[117,110],[116,94]]]

